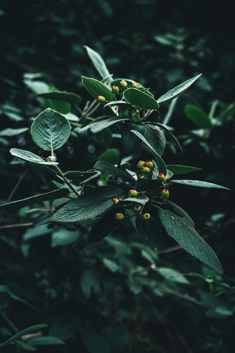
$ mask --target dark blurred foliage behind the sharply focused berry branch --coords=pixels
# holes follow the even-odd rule
[[[85,106],[90,97],[81,75],[100,77],[84,45],[104,58],[113,77],[134,79],[150,87],[155,98],[203,73],[178,98],[168,119],[184,153],[168,142],[163,158],[167,164],[202,168],[189,179],[231,189],[171,190],[171,201],[193,216],[198,233],[208,238],[224,276],[178,249],[173,239],[168,250],[154,251],[129,222],[101,243],[88,245],[94,220],[80,223],[75,231],[71,225],[48,228],[50,203],[17,216],[1,214],[3,226],[34,222],[36,228],[0,229],[0,341],[17,329],[48,324],[46,340],[18,340],[5,352],[49,352],[52,347],[82,353],[227,353],[234,347],[235,44],[228,36],[234,20],[232,11],[214,1],[206,5],[183,0],[1,2],[1,131],[29,128],[31,118],[46,107],[32,94],[50,87],[80,94]],[[211,114],[209,130],[195,124],[188,106]],[[162,121],[168,108],[160,109]],[[71,112],[79,115],[74,108]],[[104,136],[87,140],[76,131],[71,134],[57,153],[63,172],[88,170],[100,155],[118,156],[119,139],[106,134],[106,144]],[[12,160],[13,147],[40,153],[29,131],[15,136],[0,132],[1,203],[25,172],[25,166]],[[150,158],[142,147],[129,162],[135,168],[138,160]],[[13,200],[46,192],[49,177],[30,168]],[[63,201],[55,201],[55,207],[58,202]]]

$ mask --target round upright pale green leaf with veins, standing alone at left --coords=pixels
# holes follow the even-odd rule
[[[31,135],[36,145],[50,151],[66,143],[70,130],[70,124],[63,115],[47,108],[33,121]]]

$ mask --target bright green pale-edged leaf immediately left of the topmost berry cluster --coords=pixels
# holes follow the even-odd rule
[[[82,76],[82,83],[93,98],[103,96],[106,101],[113,101],[112,91],[100,81]],[[104,102],[104,104],[105,103],[106,102]]]

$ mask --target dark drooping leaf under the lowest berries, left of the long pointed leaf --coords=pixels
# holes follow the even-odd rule
[[[142,220],[141,215],[136,217],[136,229],[145,243],[158,249],[167,247],[169,236],[161,222],[153,217]]]

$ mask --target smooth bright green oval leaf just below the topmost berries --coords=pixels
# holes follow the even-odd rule
[[[138,109],[149,110],[159,108],[159,104],[154,98],[135,88],[126,89],[123,92],[123,96],[126,101]]]

